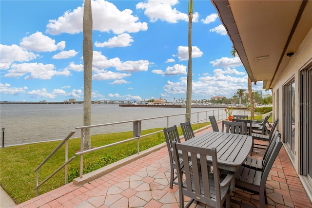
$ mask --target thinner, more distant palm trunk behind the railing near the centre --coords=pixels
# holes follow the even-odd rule
[[[193,19],[193,0],[187,2],[189,10],[189,33],[188,33],[188,46],[189,46],[189,61],[187,69],[187,85],[186,85],[186,115],[185,121],[191,121],[192,110],[192,19]]]

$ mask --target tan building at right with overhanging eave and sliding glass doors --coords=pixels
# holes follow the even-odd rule
[[[273,119],[312,199],[312,1],[212,3],[251,80],[272,89]]]

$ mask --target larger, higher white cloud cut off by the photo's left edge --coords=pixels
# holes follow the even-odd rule
[[[11,46],[0,44],[0,54],[0,69],[9,69],[14,61],[30,61],[39,57],[15,44]]]

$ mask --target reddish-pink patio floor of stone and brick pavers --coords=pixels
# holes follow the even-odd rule
[[[263,154],[264,150],[253,150],[253,157],[262,158]],[[170,189],[169,180],[170,163],[165,147],[83,186],[69,183],[15,208],[178,208],[178,186]],[[266,192],[266,208],[312,208],[284,147],[270,171]],[[231,195],[237,201],[259,207],[256,194],[234,189]],[[189,200],[184,197],[185,202]],[[204,207],[193,203],[190,208]],[[231,207],[239,208],[234,203]]]

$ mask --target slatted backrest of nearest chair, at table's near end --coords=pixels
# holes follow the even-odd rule
[[[182,157],[184,163],[186,187],[183,186],[181,165],[177,163],[176,168],[179,191],[191,199],[209,204],[212,207],[222,207],[219,171],[215,171],[218,170],[216,148],[202,148],[173,142],[173,150],[175,159]],[[180,155],[178,152],[181,152]],[[213,159],[214,181],[209,180],[207,156],[211,156]],[[189,161],[189,163],[185,161]],[[192,164],[192,167],[185,164]],[[211,189],[212,187],[214,190]]]

